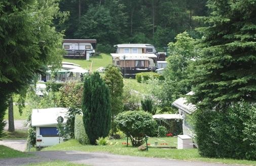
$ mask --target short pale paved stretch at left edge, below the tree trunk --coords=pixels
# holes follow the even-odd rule
[[[27,141],[26,140],[0,140],[0,145],[5,145],[19,151],[25,151],[27,146]]]

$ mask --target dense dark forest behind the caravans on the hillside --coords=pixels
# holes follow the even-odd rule
[[[98,48],[118,43],[164,47],[181,32],[199,37],[194,16],[206,16],[206,0],[63,0],[69,14],[58,31],[69,39],[97,39]]]

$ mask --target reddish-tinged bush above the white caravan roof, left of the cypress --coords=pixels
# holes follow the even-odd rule
[[[60,105],[63,107],[81,108],[81,98],[83,93],[83,84],[80,82],[70,82],[63,84],[59,88]]]

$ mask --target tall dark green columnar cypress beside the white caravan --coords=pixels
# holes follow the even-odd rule
[[[96,139],[106,137],[111,128],[109,91],[97,72],[85,78],[82,112],[90,144],[96,144]]]

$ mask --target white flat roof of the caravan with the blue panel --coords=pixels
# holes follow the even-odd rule
[[[57,118],[61,116],[66,123],[66,114],[68,108],[45,108],[45,109],[32,109],[31,126],[51,126],[57,125]]]

